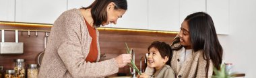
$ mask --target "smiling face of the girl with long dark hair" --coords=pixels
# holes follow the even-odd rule
[[[181,24],[181,31],[178,35],[180,37],[181,45],[191,48],[191,39],[189,35],[189,23],[187,21],[183,21],[183,23]]]

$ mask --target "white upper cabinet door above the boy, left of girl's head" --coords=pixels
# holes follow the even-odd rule
[[[180,0],[148,0],[150,30],[179,31]]]

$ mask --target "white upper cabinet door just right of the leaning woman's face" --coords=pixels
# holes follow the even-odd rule
[[[127,0],[127,11],[117,20],[117,25],[106,27],[148,29],[148,0]]]

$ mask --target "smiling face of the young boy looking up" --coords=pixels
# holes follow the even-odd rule
[[[168,61],[168,57],[161,57],[158,49],[155,47],[150,48],[150,53],[148,53],[148,66],[154,67],[155,69],[160,69]]]

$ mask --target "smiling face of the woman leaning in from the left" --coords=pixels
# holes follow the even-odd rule
[[[117,24],[117,19],[121,18],[125,14],[126,10],[123,9],[114,9],[115,3],[111,2],[106,7],[107,19],[105,23],[102,23],[102,26],[108,25],[109,23]]]

